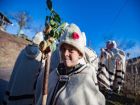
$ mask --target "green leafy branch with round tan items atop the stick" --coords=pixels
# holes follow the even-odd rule
[[[50,15],[46,16],[45,20],[45,41],[40,44],[40,50],[43,53],[47,52],[48,48],[51,48],[52,51],[55,51],[56,43],[54,42],[61,37],[66,26],[66,23],[61,21],[60,16],[53,9],[52,1],[46,0],[46,4],[50,11]]]

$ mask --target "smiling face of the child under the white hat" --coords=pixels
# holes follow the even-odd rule
[[[71,68],[78,64],[79,59],[82,57],[79,51],[68,44],[63,44],[60,48],[61,59],[66,67]]]

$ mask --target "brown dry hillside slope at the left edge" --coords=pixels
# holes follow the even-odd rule
[[[13,68],[19,52],[29,42],[6,32],[0,31],[0,79],[2,73]],[[8,78],[6,78],[8,79]]]

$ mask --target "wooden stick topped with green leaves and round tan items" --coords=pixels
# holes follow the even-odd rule
[[[50,16],[46,16],[45,21],[45,41],[40,43],[40,50],[46,58],[44,79],[43,79],[43,91],[42,91],[42,105],[46,105],[48,94],[48,77],[50,70],[50,62],[52,52],[56,49],[55,42],[60,38],[64,32],[66,23],[62,23],[59,15],[52,8],[52,1],[46,0],[48,9],[50,10]]]

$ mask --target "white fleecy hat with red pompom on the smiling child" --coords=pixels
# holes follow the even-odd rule
[[[75,24],[69,24],[63,34],[64,38],[60,42],[60,47],[62,44],[66,43],[75,47],[84,55],[85,47],[85,36],[80,31],[79,27]]]

